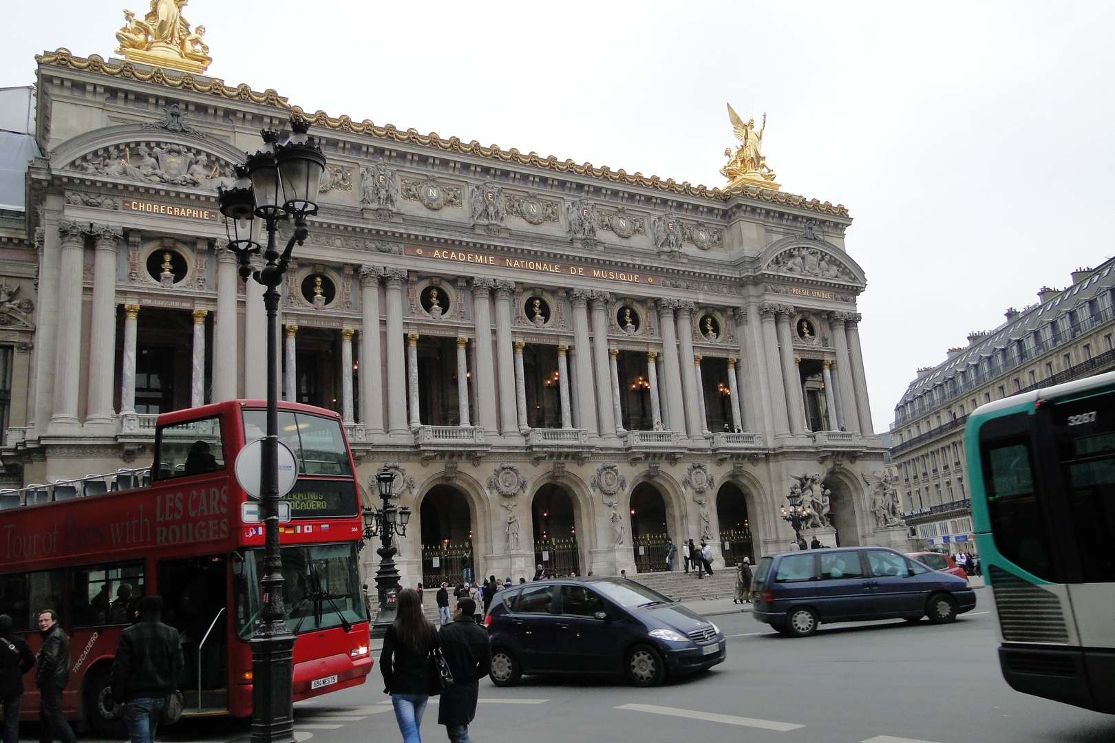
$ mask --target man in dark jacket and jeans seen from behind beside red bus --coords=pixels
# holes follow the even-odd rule
[[[124,704],[132,743],[152,743],[166,695],[178,687],[182,643],[178,630],[159,619],[161,596],[136,605],[138,622],[120,633],[113,659],[113,700]]]

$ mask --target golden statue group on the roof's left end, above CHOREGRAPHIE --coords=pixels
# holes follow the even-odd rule
[[[127,25],[116,32],[120,42],[116,53],[132,62],[181,70],[204,72],[213,58],[202,41],[205,27],[190,30],[190,22],[182,16],[188,0],[151,0],[151,10],[143,19],[130,10],[124,11]]]

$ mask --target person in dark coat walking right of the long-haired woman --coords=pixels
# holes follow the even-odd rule
[[[438,633],[442,652],[453,672],[453,686],[442,692],[437,724],[445,725],[450,743],[471,743],[468,723],[476,716],[479,680],[492,668],[492,645],[487,630],[473,622],[475,612],[476,602],[462,598],[457,602],[453,623]]]

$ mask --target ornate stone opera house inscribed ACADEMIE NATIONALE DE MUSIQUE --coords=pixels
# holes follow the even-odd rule
[[[407,581],[468,545],[485,576],[661,569],[667,534],[734,564],[788,545],[798,482],[823,541],[904,538],[865,486],[884,448],[843,206],[308,114],[173,60],[38,61],[43,154],[0,256],[9,487],[143,463],[158,412],[264,397],[216,193],[297,115],[329,165],[283,397],[341,412],[361,482],[397,468]],[[766,167],[748,146],[733,173]]]

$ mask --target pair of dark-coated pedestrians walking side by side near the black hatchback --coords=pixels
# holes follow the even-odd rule
[[[443,593],[447,602],[448,585],[444,583],[438,590],[439,614]],[[384,636],[379,671],[404,743],[421,743],[423,714],[429,697],[436,694],[442,696],[437,723],[445,725],[450,743],[469,743],[468,725],[476,717],[479,680],[492,666],[487,630],[476,624],[475,615],[476,602],[469,596],[458,597],[453,620],[435,628],[423,614],[418,594],[410,588],[399,593],[395,620]],[[448,688],[443,688],[439,681],[435,664],[438,653],[453,676]]]

